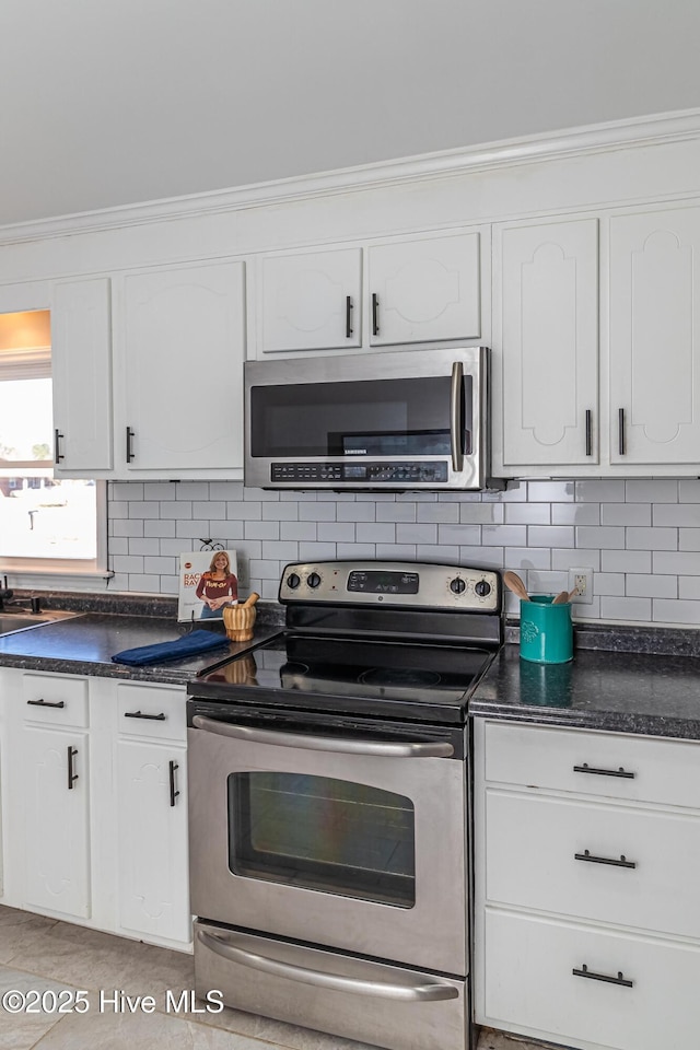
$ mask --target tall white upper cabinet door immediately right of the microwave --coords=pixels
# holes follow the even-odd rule
[[[598,462],[598,222],[502,226],[494,336],[503,466]]]

